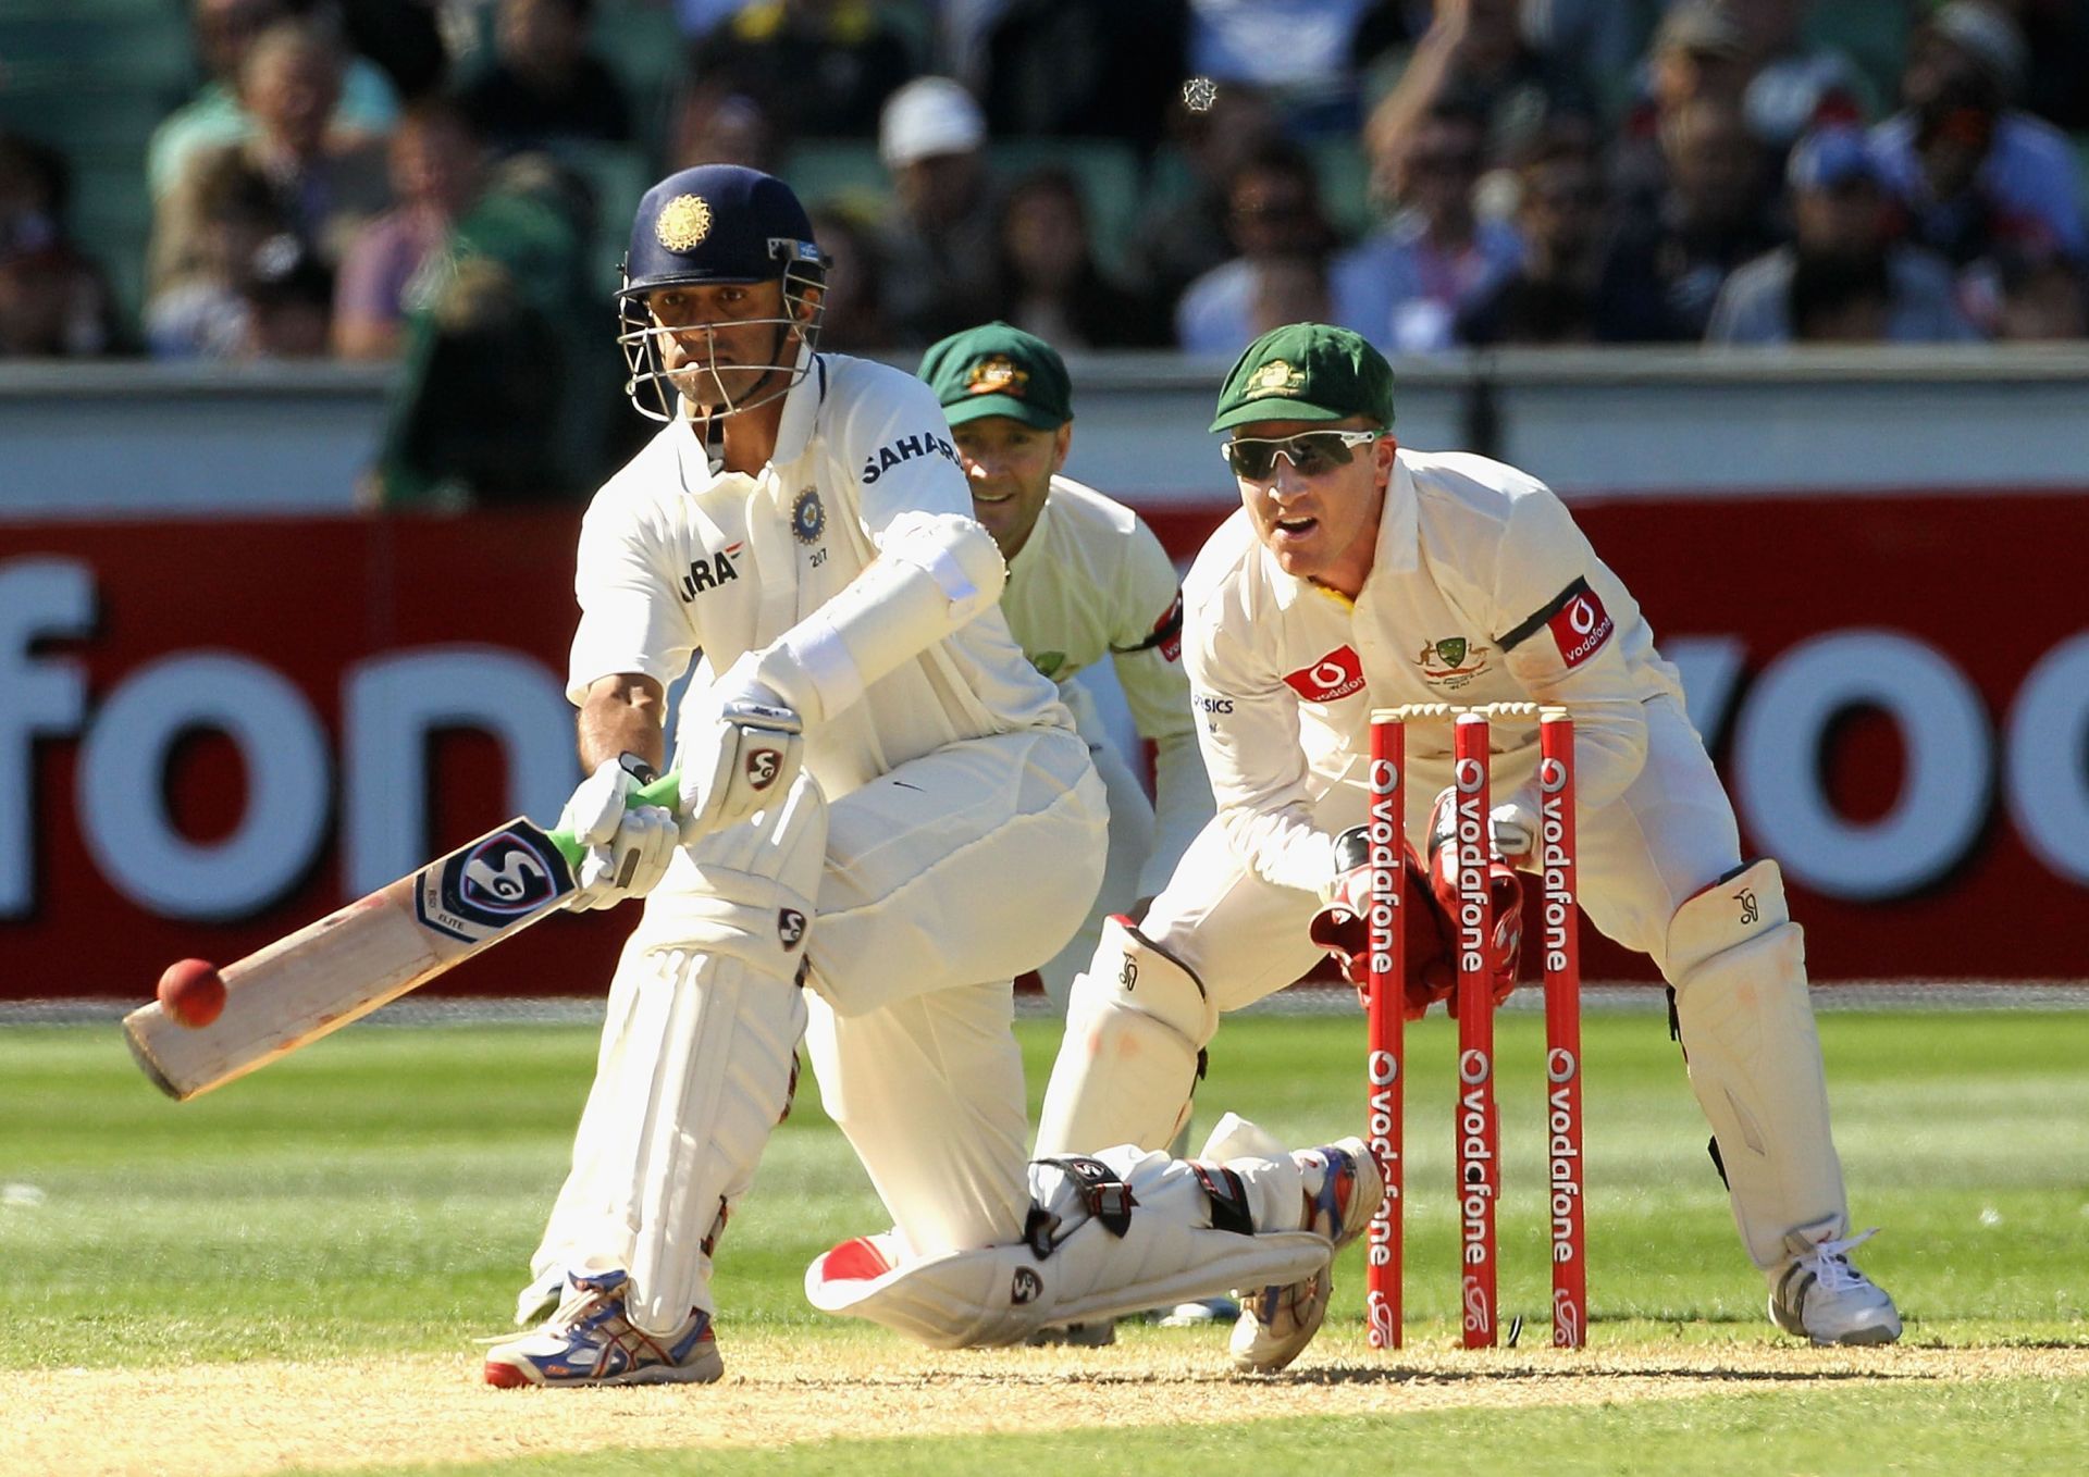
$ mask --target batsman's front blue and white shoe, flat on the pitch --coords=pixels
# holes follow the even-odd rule
[[[725,1373],[710,1314],[691,1308],[668,1335],[625,1316],[625,1272],[574,1272],[566,1299],[541,1329],[487,1352],[487,1383],[524,1385],[708,1385]]]

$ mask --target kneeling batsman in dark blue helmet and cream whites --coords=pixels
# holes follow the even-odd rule
[[[892,1216],[806,1295],[932,1345],[1314,1276],[1385,1195],[1360,1141],[1264,1153],[1247,1126],[1224,1162],[1026,1162],[1009,982],[1095,896],[1103,788],[1009,637],[936,397],[819,353],[823,284],[752,169],[668,175],[631,228],[627,389],[662,428],[583,520],[562,821],[585,905],[646,907],[493,1385],[719,1379],[712,1256],[800,1034]],[[679,804],[631,808],[698,656]]]

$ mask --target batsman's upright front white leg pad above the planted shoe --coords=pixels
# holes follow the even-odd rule
[[[800,777],[781,806],[677,859],[625,946],[574,1168],[533,1266],[629,1270],[639,1329],[712,1308],[717,1233],[790,1109],[825,840],[825,800]]]

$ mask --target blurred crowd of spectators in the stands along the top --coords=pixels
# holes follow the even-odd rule
[[[554,403],[637,192],[702,161],[815,207],[846,351],[2085,334],[2089,0],[157,2],[201,81],[138,140],[140,301],[15,119],[0,355],[531,364]],[[600,46],[639,10],[646,79]]]

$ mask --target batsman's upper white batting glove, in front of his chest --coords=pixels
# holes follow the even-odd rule
[[[804,763],[804,723],[754,679],[742,656],[710,687],[683,698],[681,844],[746,821],[781,800]]]

